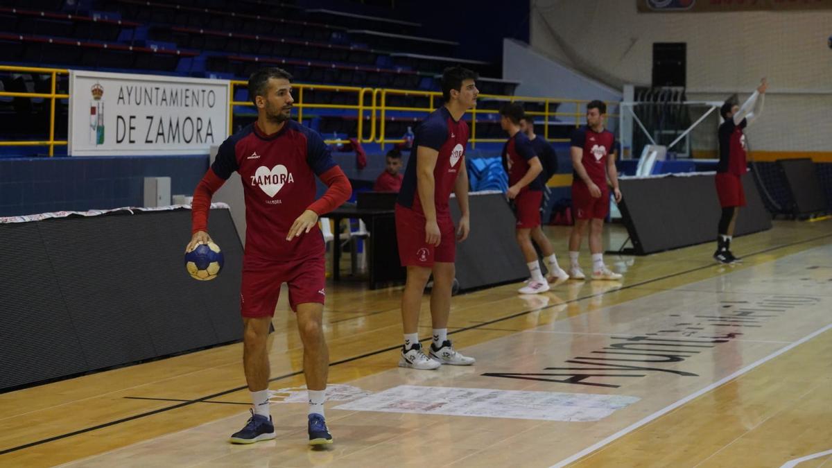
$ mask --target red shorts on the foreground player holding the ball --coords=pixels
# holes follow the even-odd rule
[[[323,253],[290,261],[243,260],[240,313],[244,317],[275,315],[280,286],[289,285],[289,305],[324,303],[325,260]]]

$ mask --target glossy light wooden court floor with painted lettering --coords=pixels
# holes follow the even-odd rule
[[[567,231],[547,229],[565,261]],[[282,297],[275,441],[226,442],[248,416],[235,344],[0,395],[0,466],[832,467],[832,221],[738,238],[738,266],[713,248],[607,256],[622,281],[456,296],[451,337],[478,362],[438,371],[396,366],[400,288],[328,285],[328,450],[305,445]]]

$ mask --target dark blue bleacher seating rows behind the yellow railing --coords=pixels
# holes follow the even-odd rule
[[[349,7],[344,7],[349,9]],[[258,67],[285,68],[294,81],[352,87],[438,91],[444,67],[477,70],[483,94],[513,95],[518,82],[503,80],[499,63],[465,57],[458,42],[432,37],[418,22],[305,8],[268,0],[15,0],[0,7],[0,52],[7,65],[72,67],[108,72],[141,72],[245,80]],[[33,73],[0,76],[5,91],[48,92],[49,77]],[[67,77],[57,90],[67,91]],[[309,92],[304,102],[355,104],[338,93]],[[428,107],[428,98],[390,95],[391,107]],[[245,87],[235,101],[248,100]],[[48,128],[48,100],[0,98],[0,137],[42,139]],[[441,99],[433,106],[441,104]],[[481,102],[496,110],[498,102]],[[253,112],[235,107],[235,128]],[[399,138],[423,112],[385,113],[385,137]],[[239,117],[239,118],[238,118]],[[501,138],[496,114],[478,116],[478,137]],[[56,138],[65,139],[67,102],[56,107]],[[304,123],[327,137],[356,137],[355,112],[314,109]],[[39,135],[39,136],[38,136]],[[2,148],[22,155],[42,148]],[[57,154],[65,148],[57,148]]]

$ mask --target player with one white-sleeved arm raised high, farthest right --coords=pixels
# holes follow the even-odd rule
[[[722,216],[717,226],[716,251],[714,258],[720,263],[733,263],[739,259],[730,251],[731,237],[734,236],[736,217],[740,207],[745,207],[745,191],[742,188],[742,177],[748,172],[745,164],[745,134],[742,130],[750,125],[763,112],[765,90],[769,87],[765,78],[760,82],[757,90],[742,105],[726,101],[722,104],[720,113],[725,122],[719,130],[720,162],[716,166],[716,194],[720,198]],[[755,107],[757,98],[759,107]],[[754,112],[751,112],[755,107]]]

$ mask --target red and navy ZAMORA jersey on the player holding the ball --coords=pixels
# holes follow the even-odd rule
[[[211,170],[227,180],[239,172],[245,193],[245,255],[283,261],[322,255],[318,227],[286,241],[286,234],[315,200],[315,177],[335,166],[317,132],[287,121],[265,135],[256,122],[220,145]]]

